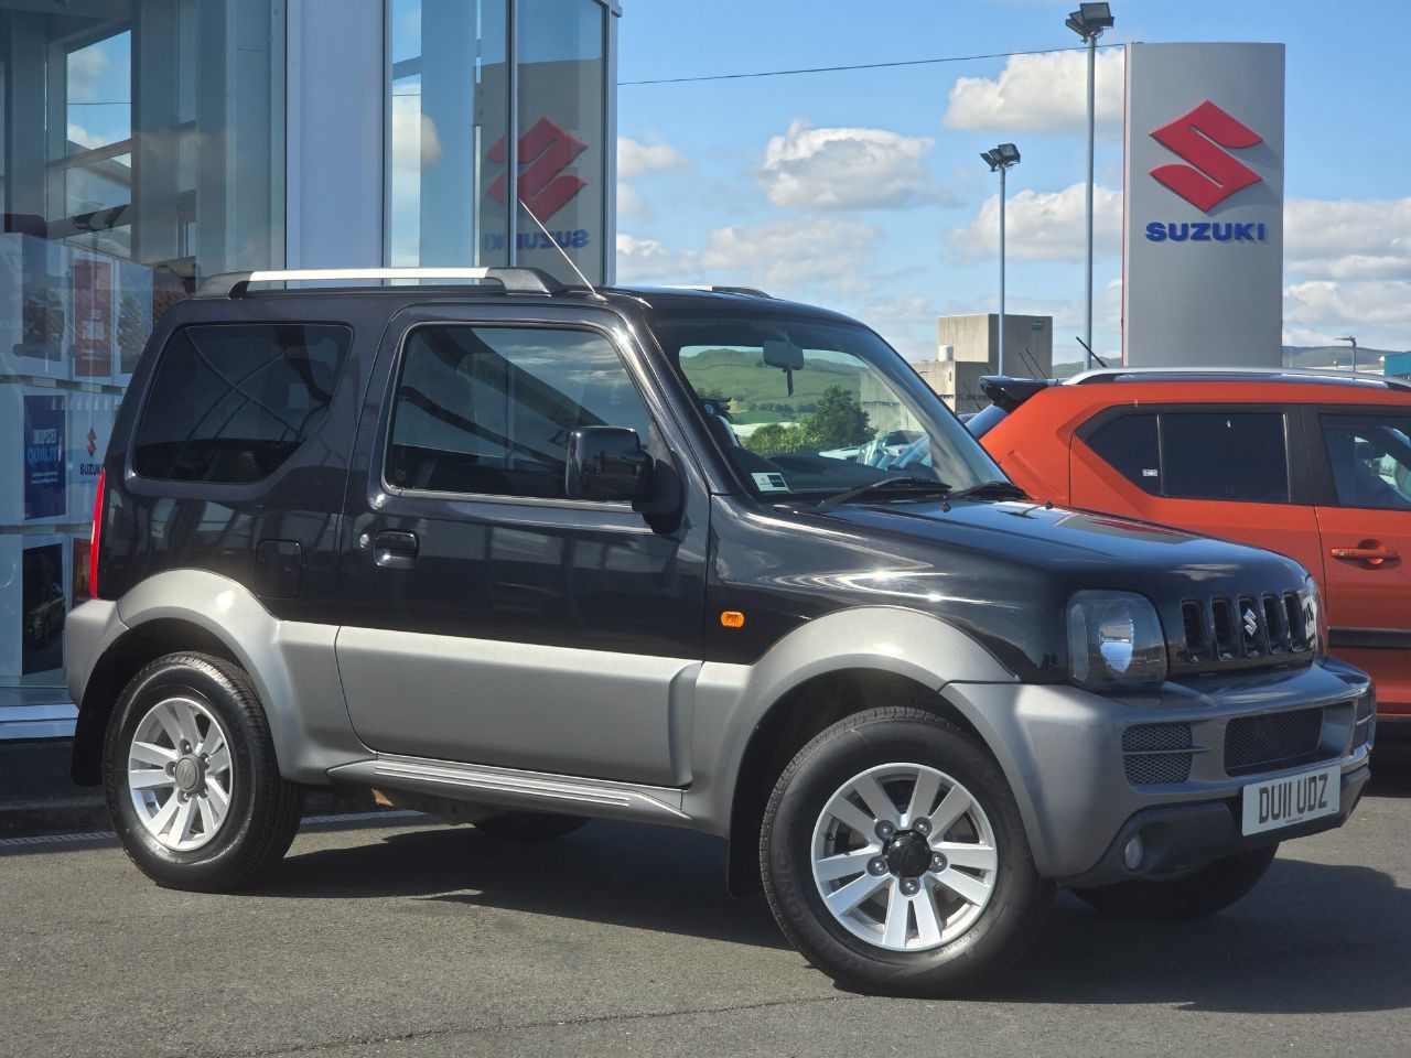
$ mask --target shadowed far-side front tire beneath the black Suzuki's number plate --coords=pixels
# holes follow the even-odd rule
[[[1133,879],[1095,889],[1074,889],[1074,896],[1112,918],[1144,923],[1188,923],[1223,911],[1249,894],[1278,845],[1239,852],[1174,879]]]

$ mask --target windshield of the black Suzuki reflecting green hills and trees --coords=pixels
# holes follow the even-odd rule
[[[952,490],[1005,480],[864,327],[761,316],[667,319],[655,330],[715,442],[761,495],[823,499],[900,477]]]

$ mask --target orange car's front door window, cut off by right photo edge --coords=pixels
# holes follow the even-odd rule
[[[1338,506],[1411,509],[1411,418],[1321,415]]]

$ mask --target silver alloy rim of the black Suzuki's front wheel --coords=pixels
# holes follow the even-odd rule
[[[926,765],[854,776],[813,828],[813,880],[824,906],[854,937],[889,951],[926,951],[965,934],[998,877],[985,810]]]

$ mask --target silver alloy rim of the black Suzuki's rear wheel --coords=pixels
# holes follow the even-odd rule
[[[127,748],[127,790],[147,832],[172,852],[192,852],[230,814],[236,769],[216,715],[199,701],[164,698]]]

